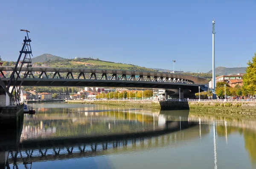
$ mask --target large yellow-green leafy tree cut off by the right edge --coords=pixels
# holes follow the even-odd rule
[[[253,56],[252,62],[247,63],[246,73],[243,76],[243,91],[246,95],[256,94],[256,53]]]

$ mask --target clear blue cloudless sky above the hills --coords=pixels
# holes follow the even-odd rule
[[[16,61],[31,31],[34,56],[93,57],[148,68],[246,67],[256,52],[256,0],[0,1],[0,55]]]

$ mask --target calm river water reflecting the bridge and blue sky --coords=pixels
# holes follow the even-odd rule
[[[29,106],[35,115],[25,114],[16,133],[1,133],[3,168],[256,168],[255,118],[88,104]]]

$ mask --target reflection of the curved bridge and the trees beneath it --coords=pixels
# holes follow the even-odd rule
[[[22,133],[17,132],[17,137],[21,135],[20,143],[12,149],[2,147],[1,151],[8,154],[6,168],[11,165],[17,168],[19,164],[30,168],[39,161],[154,149],[182,144],[184,140],[197,138],[199,133],[209,132],[208,125],[200,127],[198,123],[181,120],[188,118],[186,110],[172,114],[131,109],[80,110],[79,119],[74,119],[73,113],[69,118],[67,114],[57,114],[50,119],[43,119],[44,114],[40,113],[25,117]]]

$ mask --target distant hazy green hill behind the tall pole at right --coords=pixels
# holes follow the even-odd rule
[[[246,68],[225,68],[225,67],[217,67],[215,69],[215,74],[221,75],[229,75],[231,73],[245,73]],[[212,73],[212,70],[210,70],[207,73]]]

